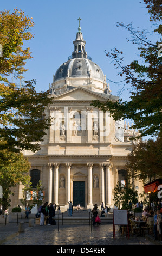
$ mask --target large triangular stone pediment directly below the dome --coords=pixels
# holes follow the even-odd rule
[[[107,101],[111,99],[112,95],[104,95],[100,93],[93,92],[83,87],[77,87],[67,92],[61,93],[55,96],[55,100],[59,101],[93,101],[93,100],[100,100],[100,101]],[[115,96],[113,96],[115,97]],[[114,99],[112,99],[114,100]]]

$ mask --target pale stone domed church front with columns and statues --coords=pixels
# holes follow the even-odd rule
[[[37,170],[44,186],[45,201],[68,208],[85,208],[101,202],[113,206],[113,190],[119,171],[125,170],[127,155],[132,150],[130,136],[137,132],[124,123],[115,122],[109,112],[90,104],[93,100],[116,101],[99,66],[87,58],[85,41],[77,32],[72,58],[63,63],[53,78],[49,96],[53,105],[47,108],[52,117],[50,129],[41,143],[41,150],[24,151]],[[78,49],[81,51],[78,58]],[[134,181],[139,193],[142,184]],[[20,204],[22,185],[15,188],[11,207]]]

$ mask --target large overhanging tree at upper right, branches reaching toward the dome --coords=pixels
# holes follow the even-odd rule
[[[150,21],[155,22],[153,33],[157,38],[162,34],[160,24],[162,18],[161,1],[144,0],[148,13],[151,14]],[[131,119],[134,121],[133,129],[140,130],[143,136],[161,136],[162,120],[162,54],[161,39],[151,42],[148,39],[148,31],[133,28],[132,22],[128,25],[117,23],[118,27],[128,30],[132,39],[128,39],[133,44],[138,45],[140,52],[139,59],[131,64],[122,65],[122,51],[114,48],[111,52],[106,52],[106,56],[111,59],[114,66],[119,70],[118,75],[124,77],[122,83],[131,84],[131,96],[129,101],[122,102],[122,99],[116,102],[93,101],[92,105],[101,108],[102,111],[109,111],[114,120]]]

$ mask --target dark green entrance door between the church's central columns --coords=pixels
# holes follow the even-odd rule
[[[85,181],[73,182],[73,205],[85,207]]]

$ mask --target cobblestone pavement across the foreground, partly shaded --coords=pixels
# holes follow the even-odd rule
[[[107,245],[155,245],[146,237],[130,236],[118,232],[115,227],[113,238],[113,225],[102,224],[91,227],[89,225],[60,225],[59,231],[55,226],[29,227],[25,224],[25,232],[18,233],[16,224],[0,225],[0,245],[81,245],[81,246],[107,246]]]

